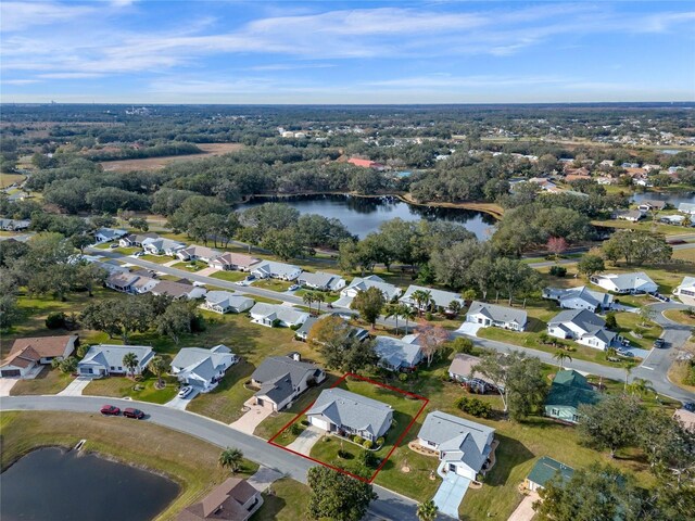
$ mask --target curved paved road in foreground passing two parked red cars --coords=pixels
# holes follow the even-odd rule
[[[190,434],[219,447],[237,447],[247,458],[302,483],[306,483],[306,471],[316,465],[275,447],[265,440],[235,431],[224,423],[155,404],[90,396],[10,396],[0,399],[0,410],[70,410],[98,414],[105,402],[121,408],[139,404],[138,408],[148,415],[147,421]],[[119,421],[118,418],[113,420]],[[376,485],[375,492],[379,498],[369,507],[372,516],[393,521],[417,521],[417,504],[414,500]]]

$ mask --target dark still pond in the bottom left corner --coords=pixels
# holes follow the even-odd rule
[[[34,450],[0,474],[3,521],[149,521],[178,495],[159,474],[61,448]]]

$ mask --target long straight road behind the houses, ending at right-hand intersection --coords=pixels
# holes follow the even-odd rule
[[[136,266],[148,268],[148,269],[154,269],[156,271],[161,271],[164,274],[174,275],[177,277],[186,277],[197,282],[203,282],[205,284],[233,290],[239,293],[249,294],[251,296],[262,296],[265,298],[274,298],[276,301],[288,302],[291,304],[304,305],[304,302],[302,301],[301,297],[294,296],[289,293],[278,293],[271,290],[254,288],[253,285],[237,285],[233,282],[229,282],[226,280],[214,279],[212,277],[205,277],[205,276],[197,275],[194,272],[184,271],[178,268],[162,266],[161,264],[150,263],[149,260],[143,260],[142,258],[139,258],[139,257],[125,256],[117,252],[91,249],[90,253],[97,253],[97,254],[103,255],[104,257],[115,258],[121,262],[126,262]],[[680,326],[661,316],[661,312],[669,307],[674,308],[674,307],[683,307],[683,306],[675,303],[668,303],[668,304],[655,303],[654,305],[652,305],[652,308],[657,312],[655,317],[656,320],[662,327],[665,327],[665,331],[666,331],[665,339],[668,342],[668,347],[665,350],[654,350],[653,353],[647,357],[647,359],[642,364],[642,366],[632,371],[632,373],[629,376],[629,381],[632,381],[635,378],[644,378],[653,382],[655,390],[659,394],[670,396],[681,402],[695,401],[694,393],[690,393],[679,387],[678,385],[672,384],[667,378],[670,360],[674,356],[675,350],[682,346],[683,343],[685,343],[685,341],[687,340],[687,331],[688,331],[687,327]],[[355,312],[351,309],[337,308],[337,310],[339,310],[341,314],[348,314],[348,315],[355,314]],[[403,321],[401,320],[401,322]],[[384,319],[383,317],[379,320],[379,323],[386,325],[389,327],[395,326],[395,321],[393,319]],[[453,334],[459,335],[459,333],[453,333]],[[538,356],[544,364],[549,364],[553,366],[558,365],[557,360],[553,358],[552,354],[545,353],[543,351],[530,350],[527,347],[519,347],[513,344],[507,344],[504,342],[496,342],[496,341],[485,340],[485,339],[476,338],[471,340],[473,340],[476,344],[483,347],[501,351],[504,353],[508,353],[510,351],[519,351],[519,352],[527,353],[529,355]],[[591,361],[583,361],[583,360],[572,360],[571,363],[566,364],[566,366],[572,369],[577,369],[579,371],[590,372],[598,377],[609,378],[611,380],[622,381],[626,379],[626,371],[624,369],[621,369],[621,368],[602,366],[599,364],[594,364]]]

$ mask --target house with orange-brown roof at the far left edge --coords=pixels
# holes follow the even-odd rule
[[[25,378],[53,358],[66,358],[78,343],[76,334],[17,339],[10,354],[0,364],[0,378]]]

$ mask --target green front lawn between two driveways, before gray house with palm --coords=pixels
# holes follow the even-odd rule
[[[166,386],[155,389],[156,378],[147,373],[143,380],[134,381],[126,377],[106,377],[92,380],[83,391],[84,395],[113,396],[114,398],[131,397],[153,404],[165,404],[178,391],[179,384],[174,377],[165,377]]]

